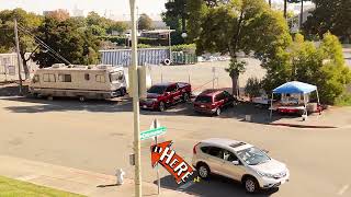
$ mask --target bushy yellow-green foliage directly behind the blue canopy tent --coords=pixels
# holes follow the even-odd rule
[[[324,35],[318,47],[297,34],[294,43],[267,61],[264,68],[263,86],[267,92],[296,80],[317,85],[320,101],[327,104],[335,103],[351,82],[351,71],[344,65],[341,44],[330,33]]]

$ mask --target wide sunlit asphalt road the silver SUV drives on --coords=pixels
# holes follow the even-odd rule
[[[0,154],[47,162],[113,175],[117,167],[133,178],[128,154],[133,144],[133,114],[128,101],[0,100]],[[235,111],[235,109],[230,109]],[[178,154],[191,161],[193,146],[202,139],[223,137],[244,140],[270,151],[291,170],[291,182],[279,190],[254,196],[351,196],[351,129],[301,129],[245,123],[240,116],[196,116],[189,104],[165,113],[141,112],[141,130],[158,118],[173,140]],[[337,117],[336,117],[337,118]],[[150,140],[143,141],[143,179],[154,183]],[[162,187],[179,189],[161,170]],[[197,196],[247,196],[240,184],[214,176],[183,189]],[[132,196],[132,194],[131,194]]]

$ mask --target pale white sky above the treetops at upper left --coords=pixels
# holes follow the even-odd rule
[[[136,2],[139,13],[147,13],[154,20],[160,20],[159,14],[166,10],[167,0],[137,0]],[[0,0],[0,10],[22,8],[37,14],[57,9],[65,9],[71,13],[75,7],[84,10],[86,13],[95,11],[101,15],[112,15],[116,20],[129,19],[129,0]]]

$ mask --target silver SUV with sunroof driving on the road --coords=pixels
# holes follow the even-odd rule
[[[195,144],[192,164],[199,176],[223,175],[244,184],[248,193],[278,187],[288,182],[284,163],[273,160],[249,143],[229,139],[207,139]]]

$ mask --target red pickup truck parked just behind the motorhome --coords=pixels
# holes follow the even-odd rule
[[[189,83],[159,83],[147,91],[147,97],[140,101],[140,108],[162,112],[170,105],[190,101],[190,96],[191,84]]]

